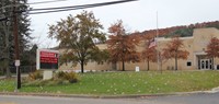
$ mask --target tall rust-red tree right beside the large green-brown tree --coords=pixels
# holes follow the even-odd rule
[[[136,46],[139,44],[140,38],[138,33],[129,35],[123,26],[123,21],[111,25],[108,27],[111,35],[107,41],[107,48],[110,51],[110,61],[123,63],[123,71],[125,71],[125,62],[140,61],[140,54],[136,51]]]

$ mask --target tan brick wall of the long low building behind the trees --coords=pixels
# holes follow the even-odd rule
[[[198,69],[198,61],[199,57],[206,56],[206,46],[210,42],[210,38],[218,37],[219,38],[219,30],[209,27],[209,28],[196,28],[194,30],[193,36],[191,37],[181,37],[180,39],[183,39],[184,47],[183,49],[186,49],[189,51],[189,56],[187,59],[182,60],[178,59],[178,70],[196,70]],[[166,44],[171,41],[171,38],[158,38],[158,46],[159,50],[162,50],[166,46]],[[106,49],[105,44],[97,45],[100,49]],[[146,47],[146,42],[142,41],[137,46],[137,51],[142,51]],[[60,50],[62,53],[64,50]],[[191,62],[192,66],[187,66],[187,63]],[[219,59],[215,59],[215,63],[219,63]],[[80,70],[80,65],[76,67],[70,67],[71,63],[68,66],[62,65],[59,69],[70,69],[70,70]],[[157,62],[150,62],[150,70],[173,70],[175,66],[175,60],[170,59],[162,62],[162,67],[158,67]],[[136,67],[139,67],[140,70],[147,70],[148,66],[146,61],[141,62],[126,62],[125,68],[126,70],[135,70]],[[117,63],[108,63],[104,62],[103,65],[97,65],[96,62],[89,62],[85,67],[85,70],[122,70],[122,62]]]

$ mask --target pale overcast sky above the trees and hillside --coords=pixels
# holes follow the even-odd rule
[[[50,0],[37,0],[37,2],[41,1]],[[53,3],[31,4],[31,8],[44,9],[116,0],[66,0]],[[28,2],[36,2],[36,0],[28,0]],[[84,10],[94,13],[95,18],[103,24],[104,32],[107,32],[107,28],[116,23],[117,20],[123,20],[126,30],[129,32],[143,32],[157,28],[157,14],[159,28],[219,21],[218,4],[219,0],[138,0]],[[69,14],[76,15],[82,11],[73,10],[30,15],[31,28],[33,30],[32,36],[35,37],[32,43],[37,44],[39,48],[57,46],[58,42],[56,39],[48,38],[48,25],[56,24],[56,22],[60,21],[60,19],[66,19]]]

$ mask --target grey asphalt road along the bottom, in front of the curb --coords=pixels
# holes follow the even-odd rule
[[[85,99],[0,95],[0,104],[219,104],[219,93],[138,99]]]

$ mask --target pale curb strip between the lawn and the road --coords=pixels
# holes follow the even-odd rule
[[[81,99],[145,99],[155,96],[172,96],[186,94],[207,94],[217,93],[217,91],[194,91],[194,92],[175,92],[175,93],[160,93],[160,94],[130,94],[130,95],[85,95],[85,94],[53,94],[53,93],[20,93],[20,92],[0,92],[0,95],[24,95],[24,96],[51,96],[51,97],[81,97]]]

